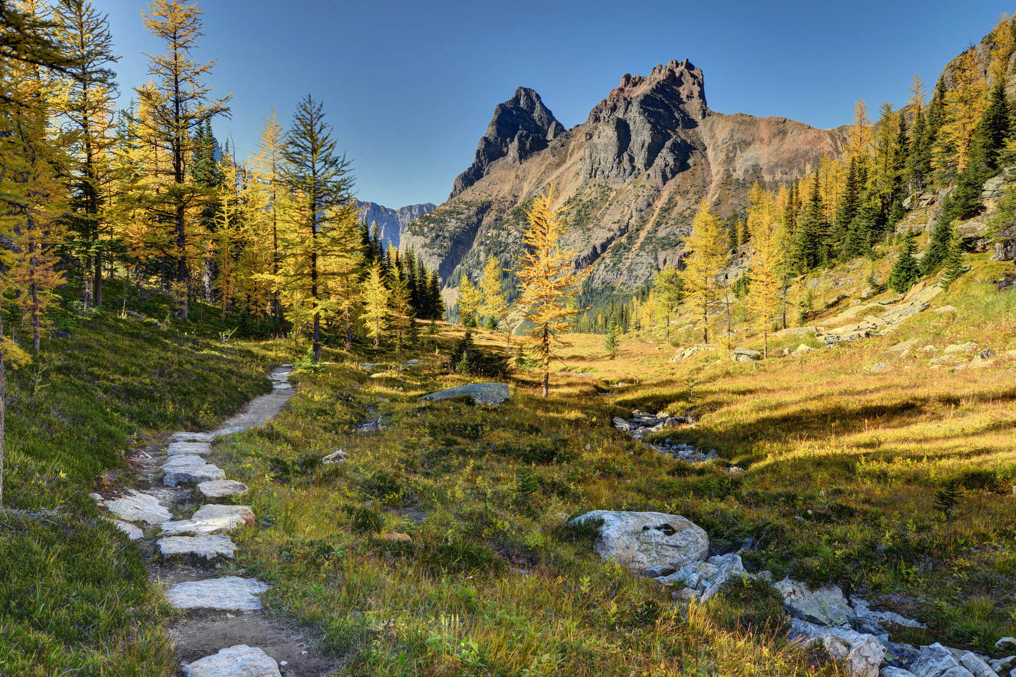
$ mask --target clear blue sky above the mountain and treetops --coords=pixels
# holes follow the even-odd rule
[[[122,100],[146,76],[137,0],[94,0],[109,12]],[[472,161],[494,107],[519,85],[539,92],[566,127],[622,74],[688,58],[709,108],[783,116],[828,128],[853,101],[902,105],[914,71],[934,84],[978,42],[1004,2],[342,2],[203,0],[196,56],[233,92],[219,141],[241,156],[272,106],[289,122],[307,93],[324,101],[354,160],[362,200],[440,203]]]

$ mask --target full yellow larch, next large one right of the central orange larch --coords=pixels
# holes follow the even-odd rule
[[[702,200],[692,220],[692,232],[685,241],[685,268],[679,274],[684,285],[685,301],[702,319],[702,342],[709,342],[709,311],[722,294],[723,285],[716,279],[726,258],[723,224]]]

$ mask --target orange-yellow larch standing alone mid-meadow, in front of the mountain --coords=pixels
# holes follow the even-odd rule
[[[539,353],[541,371],[544,376],[544,397],[550,390],[551,358],[557,345],[567,345],[562,334],[571,325],[566,319],[574,315],[574,298],[582,279],[589,274],[586,268],[578,273],[572,260],[574,250],[561,249],[561,238],[568,227],[561,217],[564,207],[554,208],[555,191],[552,185],[535,198],[532,209],[525,212],[529,228],[522,235],[526,251],[519,255],[517,306],[523,320],[532,323],[527,331],[528,343]]]

